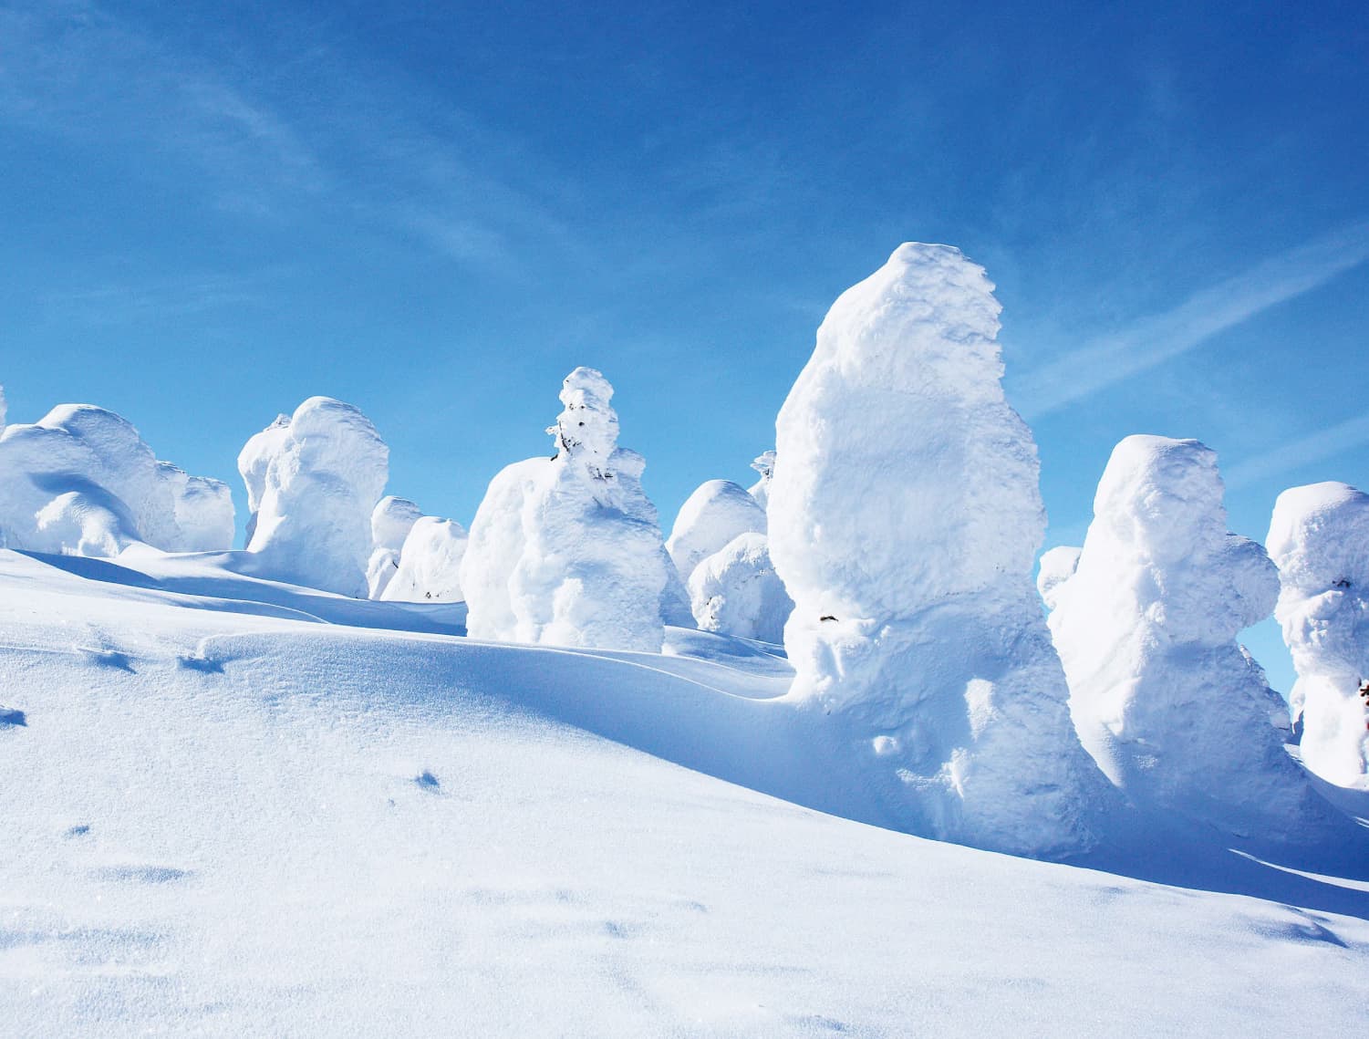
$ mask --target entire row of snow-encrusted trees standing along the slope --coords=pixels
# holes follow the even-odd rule
[[[1285,491],[1266,554],[1227,531],[1212,450],[1128,437],[1083,546],[1047,552],[1034,587],[1039,465],[1003,396],[993,289],[957,249],[899,246],[824,319],[758,482],[704,483],[668,539],[593,368],[564,381],[554,454],[502,470],[470,534],[382,498],[375,427],[312,397],[238,457],[244,565],[464,601],[479,639],[660,652],[676,624],[783,642],[787,702],[821,712],[914,832],[1062,856],[1125,799],[1299,839],[1327,809],[1295,732],[1307,768],[1369,788],[1369,496]],[[227,487],[157,461],[119,416],[4,426],[0,393],[0,546],[229,549]],[[1291,719],[1236,642],[1270,612],[1298,671]]]

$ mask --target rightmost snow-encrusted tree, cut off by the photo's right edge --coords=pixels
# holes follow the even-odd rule
[[[1269,524],[1276,616],[1298,682],[1302,760],[1340,786],[1369,788],[1369,494],[1313,483],[1279,496]]]

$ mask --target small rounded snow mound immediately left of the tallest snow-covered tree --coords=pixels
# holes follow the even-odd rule
[[[764,534],[738,534],[694,567],[689,579],[701,631],[783,642],[794,602],[769,560]]]

